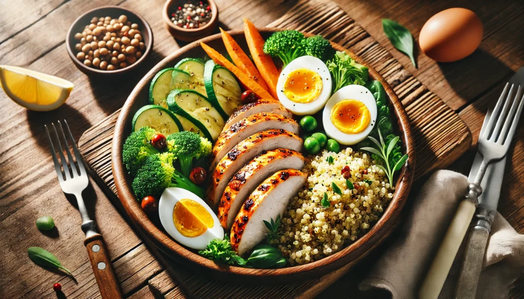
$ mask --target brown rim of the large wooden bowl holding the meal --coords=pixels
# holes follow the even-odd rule
[[[259,29],[260,32],[271,33],[275,31],[285,30],[282,28],[272,28],[266,27]],[[243,33],[242,30],[230,30],[228,31],[232,36],[239,35]],[[312,36],[312,34],[305,33],[306,36]],[[392,200],[389,202],[386,211],[378,219],[377,223],[361,238],[357,239],[355,242],[344,247],[341,251],[332,254],[331,256],[322,258],[318,261],[314,261],[308,264],[294,265],[292,267],[286,267],[281,269],[249,269],[241,268],[235,266],[227,266],[222,264],[217,264],[212,260],[206,259],[200,256],[197,253],[179,245],[176,241],[172,240],[164,232],[162,232],[154,223],[152,223],[146,214],[140,208],[140,205],[137,203],[135,196],[130,188],[130,184],[127,184],[126,178],[128,176],[127,171],[125,170],[124,163],[122,162],[122,146],[123,143],[123,134],[117,134],[119,128],[123,128],[125,125],[125,115],[129,117],[132,113],[130,108],[132,107],[133,102],[137,99],[137,95],[140,90],[147,88],[149,84],[150,77],[152,77],[152,72],[157,71],[163,67],[163,65],[171,62],[171,60],[176,59],[181,54],[186,51],[189,51],[193,48],[200,47],[200,42],[214,41],[216,39],[221,39],[220,34],[215,34],[194,42],[189,43],[187,46],[182,47],[181,49],[171,53],[165,59],[160,61],[154,68],[152,68],[144,77],[141,79],[138,84],[135,86],[133,91],[130,93],[129,97],[124,103],[121,113],[118,115],[118,119],[115,124],[115,135],[113,136],[112,143],[112,153],[111,153],[111,164],[112,171],[115,181],[115,186],[119,199],[122,202],[122,205],[136,225],[136,227],[144,232],[148,240],[152,241],[156,247],[158,247],[162,252],[167,253],[168,256],[176,259],[180,262],[188,262],[187,264],[199,265],[201,268],[206,270],[211,270],[212,274],[217,278],[221,279],[223,274],[232,274],[235,277],[242,276],[242,278],[247,279],[272,279],[272,282],[282,283],[282,279],[286,279],[292,275],[301,276],[301,278],[312,278],[320,274],[325,274],[336,269],[344,267],[346,264],[350,264],[353,261],[358,260],[362,257],[368,250],[373,249],[381,240],[388,236],[391,232],[391,228],[394,227],[400,218],[400,212],[403,205],[406,203],[408,194],[411,188],[411,183],[414,176],[414,167],[415,167],[415,149],[414,149],[414,140],[411,132],[411,126],[409,123],[409,118],[407,116],[406,110],[403,108],[400,99],[392,90],[391,86],[385,81],[384,77],[376,72],[373,68],[363,61],[361,58],[356,56],[353,52],[346,50],[341,45],[332,42],[333,47],[338,51],[345,51],[350,54],[356,62],[361,63],[369,68],[370,76],[380,81],[383,84],[386,93],[388,94],[389,102],[394,107],[393,112],[397,118],[398,123],[398,134],[402,140],[402,147],[405,153],[408,154],[408,160],[405,166],[402,168],[402,171],[398,175],[398,179],[395,183],[396,190]],[[389,229],[389,230],[388,230]],[[369,243],[368,243],[369,242]],[[363,251],[362,245],[368,244],[368,247]],[[337,262],[338,261],[338,262]],[[318,269],[320,268],[320,269]],[[264,280],[265,281],[265,280]],[[258,282],[264,282],[259,280]]]

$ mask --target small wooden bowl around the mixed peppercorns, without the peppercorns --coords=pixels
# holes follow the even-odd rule
[[[198,29],[185,29],[179,26],[176,26],[171,21],[170,12],[174,9],[177,9],[179,6],[184,5],[185,1],[183,0],[167,0],[162,8],[162,18],[166,22],[167,29],[169,33],[176,39],[182,41],[195,41],[197,39],[204,38],[213,32],[216,28],[216,24],[219,22],[219,9],[216,8],[216,4],[213,0],[206,0],[211,6],[211,20],[208,24],[198,28]]]

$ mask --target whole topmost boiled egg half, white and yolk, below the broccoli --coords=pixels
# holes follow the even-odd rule
[[[295,115],[311,115],[324,107],[331,95],[331,74],[322,60],[302,56],[292,60],[280,73],[277,96]]]

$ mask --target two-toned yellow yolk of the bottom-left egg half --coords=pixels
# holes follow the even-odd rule
[[[174,205],[173,223],[182,236],[194,238],[213,227],[214,221],[208,210],[201,204],[183,199]]]

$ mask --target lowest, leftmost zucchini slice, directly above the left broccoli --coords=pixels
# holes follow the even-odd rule
[[[140,108],[133,117],[133,131],[142,127],[151,127],[163,136],[183,130],[178,118],[168,109],[158,105],[147,105]]]

